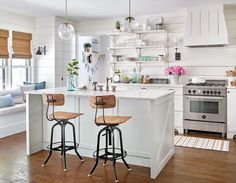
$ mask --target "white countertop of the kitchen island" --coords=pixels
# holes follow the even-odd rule
[[[88,97],[95,95],[115,95],[117,98],[127,98],[127,99],[142,99],[142,100],[157,100],[164,96],[174,94],[173,91],[169,90],[140,90],[140,91],[92,91],[85,89],[78,89],[77,91],[68,91],[67,88],[49,88],[45,90],[34,90],[28,91],[26,94],[36,94],[42,95],[43,93],[62,93],[64,95],[70,96],[80,96],[80,97]]]

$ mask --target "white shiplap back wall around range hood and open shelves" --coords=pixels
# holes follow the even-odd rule
[[[136,17],[136,21],[141,25],[150,16]],[[225,71],[233,69],[236,65],[236,12],[234,8],[225,7],[225,18],[229,34],[230,44],[226,47],[201,47],[188,48],[183,46],[185,31],[186,11],[181,10],[175,13],[160,14],[164,17],[164,29],[169,32],[170,42],[177,38],[181,52],[181,61],[174,61],[174,47],[169,49],[170,65],[181,65],[186,69],[186,75],[181,78],[186,82],[192,76],[205,76],[206,78],[222,79],[225,78]],[[119,18],[122,20],[123,18]],[[101,35],[113,30],[114,22],[117,19],[81,21],[77,24],[80,35]],[[150,67],[143,68],[143,74],[165,77],[163,70],[165,64],[150,64]],[[122,68],[122,66],[120,66]],[[133,66],[125,66],[131,71]]]

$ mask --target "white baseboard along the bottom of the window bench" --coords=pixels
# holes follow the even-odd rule
[[[10,125],[0,126],[0,138],[14,135],[26,130],[25,120],[12,123]]]

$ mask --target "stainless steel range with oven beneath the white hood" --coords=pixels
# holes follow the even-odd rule
[[[184,130],[220,132],[226,135],[227,109],[225,80],[184,86]]]

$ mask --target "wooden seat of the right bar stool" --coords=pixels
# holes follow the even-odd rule
[[[130,118],[131,116],[99,116],[96,118],[96,122],[99,125],[119,125],[125,123]]]

